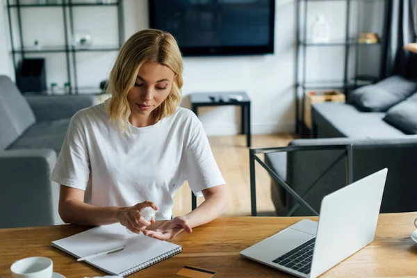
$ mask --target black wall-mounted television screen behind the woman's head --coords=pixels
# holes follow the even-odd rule
[[[149,27],[177,39],[183,56],[274,52],[275,0],[149,0]]]

